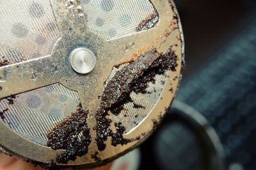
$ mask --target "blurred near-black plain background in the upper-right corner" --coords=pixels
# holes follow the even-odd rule
[[[175,4],[185,37],[185,79],[246,29],[256,12],[255,0],[175,0]]]

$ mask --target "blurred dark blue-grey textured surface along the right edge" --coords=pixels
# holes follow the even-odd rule
[[[228,169],[256,169],[256,17],[180,87],[223,143]]]

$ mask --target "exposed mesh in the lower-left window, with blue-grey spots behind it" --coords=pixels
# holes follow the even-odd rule
[[[43,145],[49,130],[76,111],[80,103],[78,93],[61,84],[22,93],[12,100],[13,104],[8,98],[0,101],[1,111],[8,109],[4,123],[17,134]]]

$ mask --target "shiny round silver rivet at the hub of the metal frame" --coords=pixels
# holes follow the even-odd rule
[[[70,63],[77,73],[86,74],[92,72],[96,65],[96,58],[92,51],[78,48],[71,52]]]

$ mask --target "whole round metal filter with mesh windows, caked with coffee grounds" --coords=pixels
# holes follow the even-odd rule
[[[0,150],[95,167],[163,118],[184,66],[171,0],[1,2]]]

